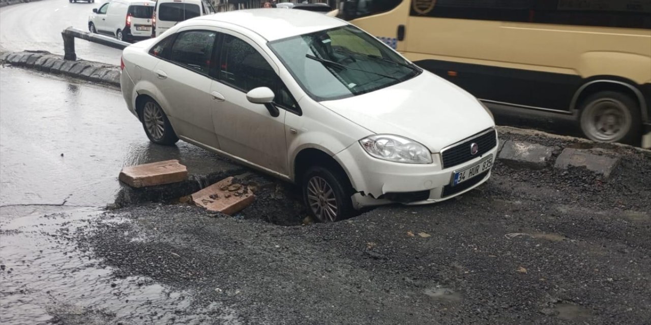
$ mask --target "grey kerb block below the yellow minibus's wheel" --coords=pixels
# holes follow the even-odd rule
[[[618,162],[618,157],[609,157],[603,150],[565,148],[556,159],[554,167],[564,170],[568,169],[568,166],[585,167],[607,178]]]

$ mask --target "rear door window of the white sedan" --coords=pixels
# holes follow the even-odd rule
[[[217,32],[180,32],[172,45],[170,60],[199,73],[208,74]]]

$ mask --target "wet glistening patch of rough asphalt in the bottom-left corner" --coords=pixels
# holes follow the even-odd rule
[[[45,216],[3,215],[0,314],[3,324],[240,324],[236,311],[197,302],[144,277],[116,270],[79,249],[76,231],[90,231],[102,211],[79,209]],[[124,222],[112,220],[111,222]]]

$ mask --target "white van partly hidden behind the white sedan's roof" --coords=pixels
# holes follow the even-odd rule
[[[154,10],[154,31],[156,37],[176,25],[179,21],[217,12],[206,0],[158,0]]]

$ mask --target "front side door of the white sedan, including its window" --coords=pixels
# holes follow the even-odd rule
[[[284,117],[298,104],[286,90],[264,51],[249,38],[225,32],[220,46],[211,94],[222,100],[213,105],[212,118],[221,149],[254,164],[288,175]],[[271,62],[271,63],[270,63]],[[271,116],[262,104],[247,100],[249,90],[271,88],[279,116]]]

